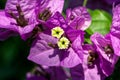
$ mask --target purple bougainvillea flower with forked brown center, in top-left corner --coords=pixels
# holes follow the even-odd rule
[[[39,1],[7,0],[5,11],[0,15],[0,28],[18,32],[23,39],[35,27],[33,14]]]

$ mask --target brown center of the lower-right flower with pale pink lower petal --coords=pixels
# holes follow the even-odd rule
[[[89,56],[87,58],[88,66],[92,67],[98,55],[93,50],[89,50],[88,53],[89,53]]]

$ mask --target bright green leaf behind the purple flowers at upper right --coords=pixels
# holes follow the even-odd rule
[[[95,32],[99,32],[103,35],[110,31],[112,17],[109,13],[103,10],[88,10],[91,17],[92,23],[86,32],[92,35]]]

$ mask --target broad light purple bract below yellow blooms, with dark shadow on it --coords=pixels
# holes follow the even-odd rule
[[[65,51],[53,49],[48,46],[48,42],[54,43],[54,41],[56,40],[53,40],[52,37],[48,35],[41,37],[41,40],[37,40],[31,47],[28,59],[46,66],[73,67],[81,62],[72,48]]]

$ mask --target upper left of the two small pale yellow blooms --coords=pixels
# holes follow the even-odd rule
[[[60,38],[64,34],[64,30],[60,27],[55,27],[52,29],[52,36],[56,38]]]

